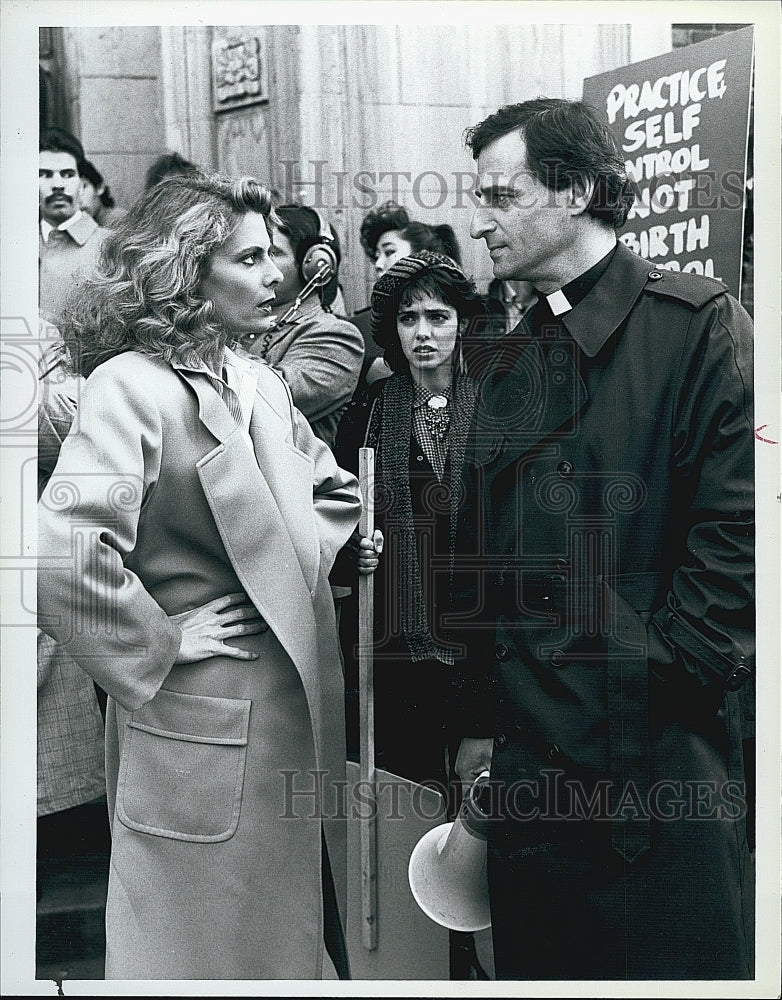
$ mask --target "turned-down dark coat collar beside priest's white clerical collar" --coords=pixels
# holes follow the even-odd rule
[[[652,270],[648,261],[619,243],[605,273],[561,321],[588,358],[601,350],[629,316]]]

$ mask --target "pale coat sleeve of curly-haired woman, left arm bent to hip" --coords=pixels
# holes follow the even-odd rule
[[[38,505],[39,627],[129,710],[155,695],[182,637],[124,565],[161,453],[154,397],[102,365]]]

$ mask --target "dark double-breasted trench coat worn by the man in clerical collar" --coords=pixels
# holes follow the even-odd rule
[[[516,947],[503,937],[522,891],[513,858],[532,852],[524,878],[541,879],[548,916],[517,948],[531,978],[741,978],[742,809],[694,824],[623,807],[669,781],[743,794],[733,689],[754,670],[751,321],[721,283],[620,245],[562,326],[540,342],[525,318],[502,341],[474,426],[463,547],[478,538],[485,558],[471,586],[465,570],[461,613],[484,628],[463,632],[465,700],[472,732],[494,736],[492,778],[540,793],[534,820],[504,801],[510,818],[490,835],[495,944]],[[573,819],[570,786],[543,821],[552,770],[584,795],[607,790],[606,821],[556,822]]]

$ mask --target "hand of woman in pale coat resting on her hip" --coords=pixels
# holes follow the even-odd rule
[[[182,643],[175,663],[196,663],[211,656],[256,660],[258,653],[232,646],[227,640],[265,632],[268,625],[247,594],[226,594],[191,611],[171,615],[182,629]]]

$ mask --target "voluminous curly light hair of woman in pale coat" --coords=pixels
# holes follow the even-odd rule
[[[252,177],[199,171],[142,194],[67,304],[61,332],[74,369],[87,376],[124,351],[171,362],[225,345],[230,331],[198,289],[210,255],[247,212],[277,221],[271,193]]]

